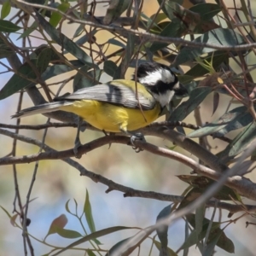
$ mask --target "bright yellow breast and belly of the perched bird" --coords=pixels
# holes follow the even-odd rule
[[[108,132],[134,131],[152,123],[160,115],[160,105],[151,110],[125,108],[108,102],[75,101],[61,110],[78,114],[90,125]]]

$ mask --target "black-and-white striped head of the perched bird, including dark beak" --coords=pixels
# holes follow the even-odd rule
[[[137,68],[137,81],[146,86],[162,108],[174,95],[185,96],[188,90],[178,82],[170,67],[157,62],[143,62]]]

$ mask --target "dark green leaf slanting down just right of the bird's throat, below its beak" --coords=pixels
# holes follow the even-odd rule
[[[191,113],[206,96],[211,93],[210,87],[198,87],[192,90],[187,102],[182,102],[172,113],[169,121],[182,121],[189,113]]]

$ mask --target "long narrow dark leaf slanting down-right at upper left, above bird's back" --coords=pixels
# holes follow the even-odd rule
[[[78,44],[75,44],[71,39],[67,38],[64,34],[55,29],[55,27],[51,26],[47,20],[44,19],[42,15],[40,15],[37,11],[35,11],[39,24],[43,26],[45,32],[49,34],[49,37],[55,41],[56,44],[61,45],[64,49],[67,49],[69,53],[74,55],[79,61],[82,61],[85,65],[90,67],[96,67],[91,61],[89,55],[87,55],[83,49],[80,49]]]

